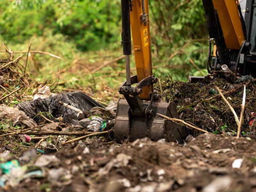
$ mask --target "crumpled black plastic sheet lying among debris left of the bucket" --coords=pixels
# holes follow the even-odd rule
[[[89,112],[93,107],[102,107],[88,95],[77,91],[57,94],[52,97],[43,99],[38,98],[36,100],[22,102],[18,104],[17,108],[21,111],[24,111],[28,117],[34,118],[37,123],[43,122],[44,119],[36,115],[39,112],[48,112],[55,118],[62,117],[64,123],[68,122],[76,125],[78,122],[77,112],[61,105],[60,101],[87,112]]]

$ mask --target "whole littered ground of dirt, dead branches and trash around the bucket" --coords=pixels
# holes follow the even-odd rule
[[[176,103],[179,123],[190,133],[185,143],[140,139],[119,145],[113,136],[115,102],[105,109],[81,92],[52,93],[51,85],[24,73],[21,58],[0,59],[0,163],[18,162],[13,172],[1,174],[3,189],[255,189],[255,79],[235,83],[215,74],[190,84],[161,78],[155,88],[163,100]],[[237,120],[220,93],[240,114],[244,85],[245,110],[237,120],[245,138],[237,139]]]

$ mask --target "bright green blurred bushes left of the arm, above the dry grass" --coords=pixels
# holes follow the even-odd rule
[[[97,50],[117,42],[120,34],[118,0],[3,0],[0,13],[0,34],[8,42],[51,29],[75,40],[80,50]]]

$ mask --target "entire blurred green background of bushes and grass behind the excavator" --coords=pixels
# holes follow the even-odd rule
[[[149,8],[154,75],[183,81],[189,74],[202,75],[190,59],[206,75],[208,32],[201,0],[149,0]],[[39,82],[60,82],[68,88],[78,84],[95,92],[104,84],[117,90],[125,80],[124,59],[93,74],[85,69],[122,55],[121,30],[120,0],[0,1],[1,42],[14,51],[27,51],[35,36],[31,50],[63,58],[34,54],[28,72]],[[55,92],[59,88],[51,87]]]

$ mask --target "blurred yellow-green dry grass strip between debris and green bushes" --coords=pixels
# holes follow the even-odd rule
[[[0,40],[3,42],[1,37]],[[5,43],[13,51],[26,52],[30,41],[23,44]],[[104,47],[99,51],[81,52],[72,40],[67,40],[61,34],[53,35],[50,31],[46,31],[43,36],[34,38],[30,50],[44,51],[63,58],[61,60],[48,55],[33,53],[28,58],[27,72],[36,81],[50,86],[52,92],[81,90],[95,99],[107,101],[119,97],[118,87],[126,80],[125,59],[110,63],[103,68],[101,66],[104,62],[123,55],[120,42]],[[191,54],[189,47],[172,59],[173,64],[167,65],[166,58],[159,59],[152,53],[154,75],[156,77],[173,76],[175,79],[183,81],[187,80],[188,73],[196,75],[197,71],[191,69],[188,64],[175,64],[177,63],[176,59],[180,61],[179,55],[183,57],[185,54]],[[15,57],[19,55],[20,53],[17,53]],[[20,62],[22,66],[25,65],[26,53],[23,55],[24,57]],[[205,59],[206,55],[207,53],[205,53]],[[0,57],[7,56],[6,53],[0,53]],[[182,70],[183,65],[185,65],[186,71]],[[98,70],[95,70],[97,68]],[[206,70],[203,72],[207,74]],[[136,74],[133,55],[131,56],[131,74]],[[32,94],[33,89],[30,89],[29,92]]]

